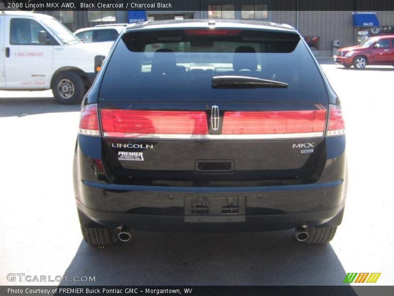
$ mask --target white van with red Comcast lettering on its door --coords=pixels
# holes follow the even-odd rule
[[[59,103],[79,103],[112,44],[84,43],[48,15],[0,11],[0,90],[52,89]]]

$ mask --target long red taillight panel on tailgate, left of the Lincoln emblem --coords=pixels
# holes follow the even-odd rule
[[[100,109],[101,128],[106,137],[135,137],[141,134],[208,133],[203,111],[140,111]]]

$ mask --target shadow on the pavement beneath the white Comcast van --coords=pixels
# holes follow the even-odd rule
[[[81,105],[61,105],[54,98],[0,98],[0,117],[80,111]]]

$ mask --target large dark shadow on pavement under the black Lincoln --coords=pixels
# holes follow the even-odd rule
[[[329,244],[300,244],[293,231],[134,232],[105,248],[82,241],[65,275],[96,281],[61,285],[344,285],[346,272]]]

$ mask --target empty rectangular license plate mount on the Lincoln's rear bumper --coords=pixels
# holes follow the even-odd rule
[[[245,222],[246,197],[185,197],[185,222]]]

